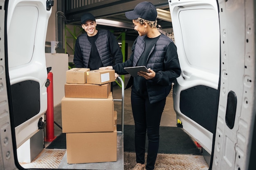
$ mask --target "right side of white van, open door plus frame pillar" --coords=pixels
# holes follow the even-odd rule
[[[254,0],[169,0],[182,74],[173,89],[184,130],[210,169],[256,169]]]

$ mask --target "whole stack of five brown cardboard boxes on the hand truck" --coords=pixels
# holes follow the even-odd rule
[[[115,70],[72,68],[66,72],[61,111],[67,163],[117,161],[112,81]]]

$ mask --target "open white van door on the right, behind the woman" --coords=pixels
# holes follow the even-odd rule
[[[218,111],[220,29],[216,0],[169,2],[182,73],[173,89],[177,119],[209,154]]]

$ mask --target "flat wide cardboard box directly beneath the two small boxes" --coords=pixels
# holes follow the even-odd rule
[[[65,97],[67,98],[108,98],[110,83],[94,84],[65,84]]]

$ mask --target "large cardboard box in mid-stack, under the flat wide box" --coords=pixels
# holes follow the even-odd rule
[[[114,101],[108,98],[66,98],[61,100],[62,132],[113,131]]]

